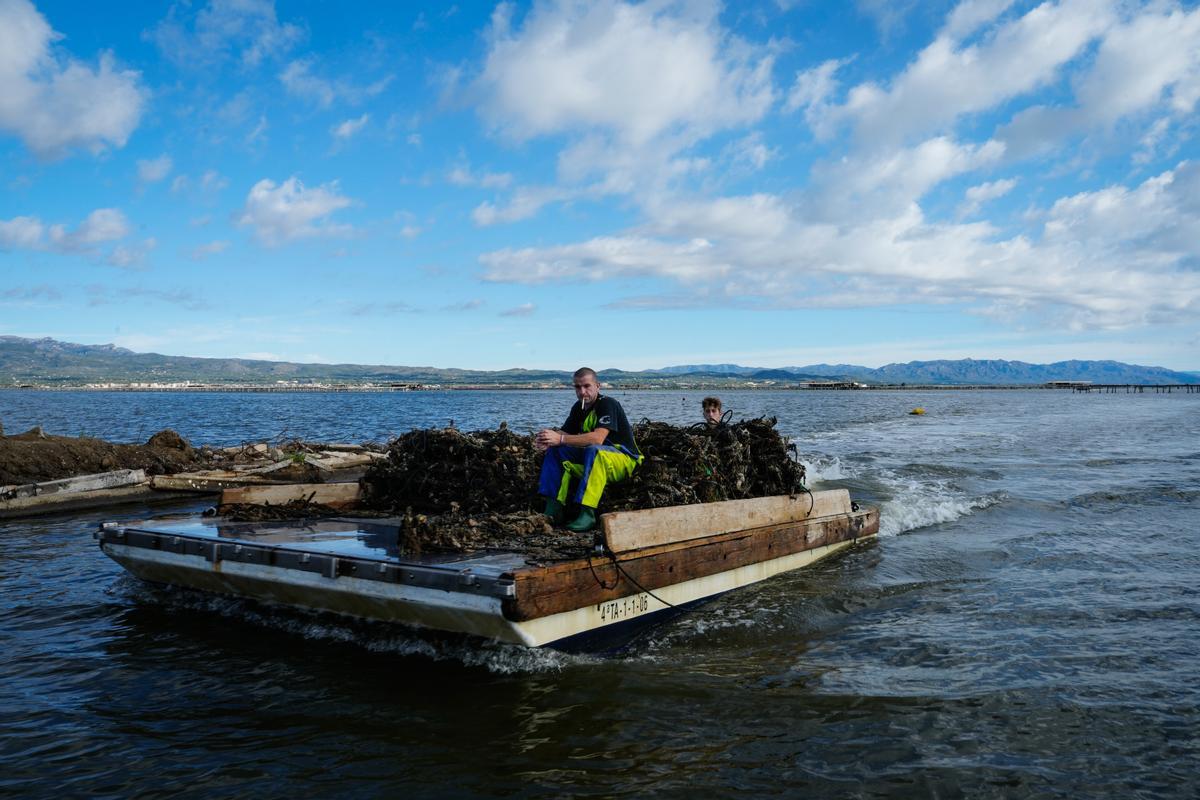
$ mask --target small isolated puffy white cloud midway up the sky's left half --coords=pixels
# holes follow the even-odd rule
[[[329,216],[350,203],[336,181],[308,190],[295,176],[280,185],[263,179],[246,196],[238,224],[252,227],[259,241],[271,246],[307,236],[343,236],[353,229]]]

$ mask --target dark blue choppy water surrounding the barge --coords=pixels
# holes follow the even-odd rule
[[[618,395],[698,419],[700,395]],[[569,392],[0,392],[12,433],[354,441],[558,422]],[[878,542],[614,656],[151,589],[0,523],[0,793],[1178,796],[1200,792],[1200,397],[740,392]],[[922,405],[925,416],[908,416]],[[179,509],[174,509],[178,511]]]

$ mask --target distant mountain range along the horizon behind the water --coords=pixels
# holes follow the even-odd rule
[[[1050,380],[1090,380],[1098,384],[1200,384],[1200,372],[1175,372],[1120,361],[974,360],[910,361],[877,369],[854,365],[817,363],[804,367],[743,367],[736,363],[694,363],[628,372],[601,369],[605,383],[648,386],[746,386],[764,381],[796,384],[809,380],[852,380],[864,384],[1013,385]],[[0,386],[82,385],[89,383],[270,384],[406,383],[463,385],[540,385],[570,381],[557,369],[446,369],[356,363],[293,363],[251,359],[197,359],[133,353],[113,344],[74,344],[50,338],[0,336]]]

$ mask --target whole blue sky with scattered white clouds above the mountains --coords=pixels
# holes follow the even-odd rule
[[[0,0],[0,335],[1200,369],[1200,10]]]

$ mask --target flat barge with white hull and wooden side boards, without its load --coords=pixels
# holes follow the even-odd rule
[[[845,489],[601,516],[596,552],[412,557],[398,521],[191,517],[103,523],[104,554],[184,587],[528,646],[589,648],[664,612],[797,570],[878,533]]]

